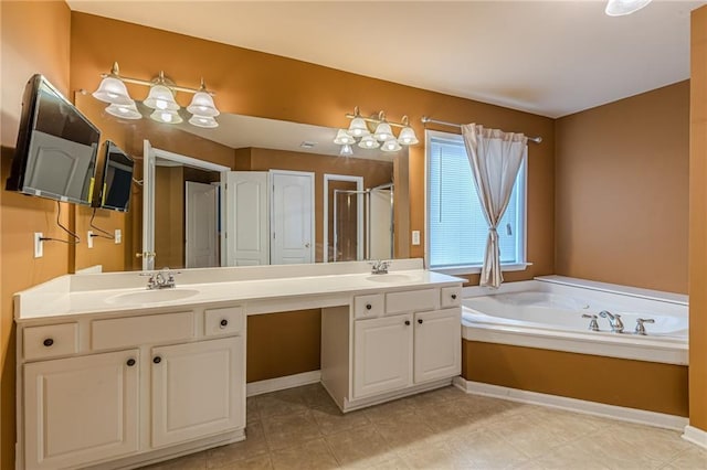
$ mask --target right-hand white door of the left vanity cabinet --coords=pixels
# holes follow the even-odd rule
[[[152,446],[245,426],[242,337],[152,348]]]

